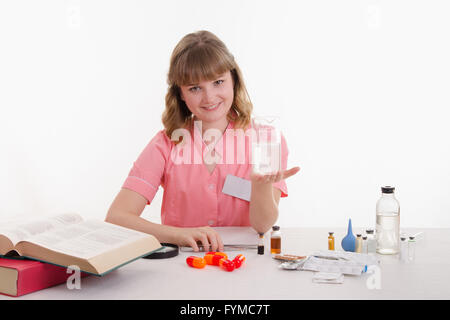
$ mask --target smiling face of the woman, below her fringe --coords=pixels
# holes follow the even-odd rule
[[[226,121],[234,98],[233,78],[227,71],[214,80],[180,86],[181,99],[198,120],[205,123]]]

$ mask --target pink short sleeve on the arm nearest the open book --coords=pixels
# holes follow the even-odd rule
[[[171,143],[163,130],[158,132],[134,162],[122,188],[139,193],[150,204],[163,181]]]

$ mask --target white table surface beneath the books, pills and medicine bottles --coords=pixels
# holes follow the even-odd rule
[[[327,249],[328,231],[334,231],[336,249],[346,230],[283,228],[283,253],[308,255]],[[362,229],[353,228],[353,233]],[[81,289],[69,290],[61,284],[22,297],[0,295],[0,299],[164,299],[164,300],[293,300],[293,299],[450,299],[450,229],[405,229],[408,235],[424,231],[417,242],[416,259],[399,261],[397,255],[379,255],[381,289],[369,289],[369,274],[345,276],[342,284],[312,282],[312,271],[288,271],[269,253],[266,235],[265,255],[254,251],[230,251],[246,256],[240,269],[226,272],[219,267],[195,269],[187,266],[180,252],[163,260],[139,259],[104,277],[82,278]],[[203,256],[203,253],[197,255]]]

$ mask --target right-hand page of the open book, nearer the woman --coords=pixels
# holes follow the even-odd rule
[[[145,237],[149,235],[104,221],[86,220],[38,234],[26,241],[87,260]]]

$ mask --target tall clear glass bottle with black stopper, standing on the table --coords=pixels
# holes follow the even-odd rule
[[[400,238],[400,204],[394,196],[394,187],[381,187],[377,201],[376,238],[377,252],[397,254]]]

